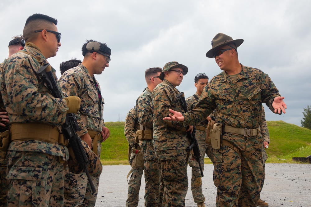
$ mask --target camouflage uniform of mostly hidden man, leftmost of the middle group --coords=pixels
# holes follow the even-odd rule
[[[132,147],[132,149],[140,150],[140,146],[136,143],[136,131],[139,130],[139,123],[137,118],[137,111],[135,108],[132,108],[125,118],[124,125],[124,135],[128,140],[128,144]],[[130,165],[132,166],[133,160],[135,159],[137,154],[131,153],[130,157]],[[127,207],[135,207],[138,206],[138,194],[140,190],[140,185],[142,182],[142,173],[144,168],[137,168],[132,166],[132,175],[128,183],[128,199],[126,200]]]

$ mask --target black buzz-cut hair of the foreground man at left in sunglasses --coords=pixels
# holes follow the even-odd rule
[[[57,25],[57,20],[44,14],[33,14],[29,16],[26,20],[23,30],[25,41],[27,42],[29,38],[34,38],[38,35],[34,33],[35,30],[49,29],[43,28],[47,24]]]

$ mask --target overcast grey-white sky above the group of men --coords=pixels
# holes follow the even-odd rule
[[[303,109],[311,105],[311,1],[185,1],[185,0],[47,0],[0,1],[0,59],[8,56],[13,35],[22,34],[26,19],[41,13],[58,20],[62,46],[49,63],[82,60],[86,39],[107,43],[111,61],[95,75],[105,100],[105,121],[123,121],[146,87],[144,71],[170,61],[188,66],[177,89],[196,92],[194,76],[211,79],[221,70],[207,58],[217,33],[244,39],[239,61],[269,74],[285,97],[286,114],[266,107],[266,119],[300,126]],[[58,78],[60,73],[57,73]]]

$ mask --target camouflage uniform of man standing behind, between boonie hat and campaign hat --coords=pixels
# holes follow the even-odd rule
[[[197,92],[194,94],[198,98],[200,97]],[[186,99],[188,110],[192,110],[193,107],[197,104],[197,99],[193,95]],[[196,125],[196,133],[195,137],[197,138],[197,142],[199,144],[201,156],[202,156],[202,170],[204,171],[204,156],[205,153],[207,156],[213,160],[212,155],[212,147],[211,145],[205,142],[206,139],[206,132],[205,129],[207,127],[208,121],[203,120],[201,123]],[[191,169],[191,191],[193,200],[195,203],[202,203],[205,201],[205,197],[202,192],[202,177],[201,171],[198,162],[195,160],[192,154],[189,156],[189,166],[192,167]]]

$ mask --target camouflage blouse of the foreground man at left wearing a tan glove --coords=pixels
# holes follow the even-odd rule
[[[35,47],[33,43],[26,43],[22,51],[27,53],[17,52],[3,65],[0,75],[3,102],[12,123],[41,122],[57,126],[60,131],[60,125],[64,123],[68,110],[67,102],[53,97],[44,81],[37,78],[36,72],[47,60]],[[52,72],[59,87],[53,67]],[[9,150],[37,151],[61,156],[64,160],[68,157],[67,147],[60,146],[57,142],[11,142]]]

